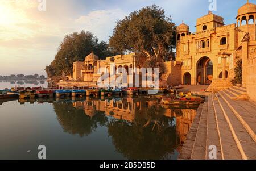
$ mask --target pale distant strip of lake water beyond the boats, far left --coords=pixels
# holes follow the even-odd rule
[[[0,90],[11,87],[47,87],[47,81],[39,80],[0,80]]]

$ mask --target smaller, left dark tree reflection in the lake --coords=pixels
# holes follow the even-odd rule
[[[96,130],[98,124],[104,126],[108,118],[104,112],[97,112],[92,118],[83,109],[75,109],[72,102],[53,102],[57,119],[65,132],[88,136]]]

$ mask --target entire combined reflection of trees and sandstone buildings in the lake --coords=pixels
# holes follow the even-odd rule
[[[175,150],[181,150],[197,107],[171,108],[159,100],[88,97],[72,103],[53,102],[53,106],[66,132],[88,136],[98,124],[104,125],[117,151],[127,159],[170,159]]]

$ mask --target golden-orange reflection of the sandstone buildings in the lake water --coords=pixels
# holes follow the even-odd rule
[[[157,112],[156,115],[163,115],[167,118],[176,118],[177,144],[182,145],[188,134],[189,128],[196,116],[196,109],[167,109],[159,108],[157,111],[151,111],[150,107],[158,107],[158,99],[152,98],[113,98],[90,99],[77,101],[73,106],[77,109],[84,109],[85,114],[93,117],[98,111],[105,112],[105,115],[112,116],[115,119],[134,122],[136,116],[147,115],[148,112]]]

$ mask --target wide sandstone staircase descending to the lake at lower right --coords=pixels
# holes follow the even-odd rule
[[[217,159],[256,159],[256,105],[245,97],[242,87],[208,95],[197,110],[179,159],[208,160],[210,145],[217,148]]]

